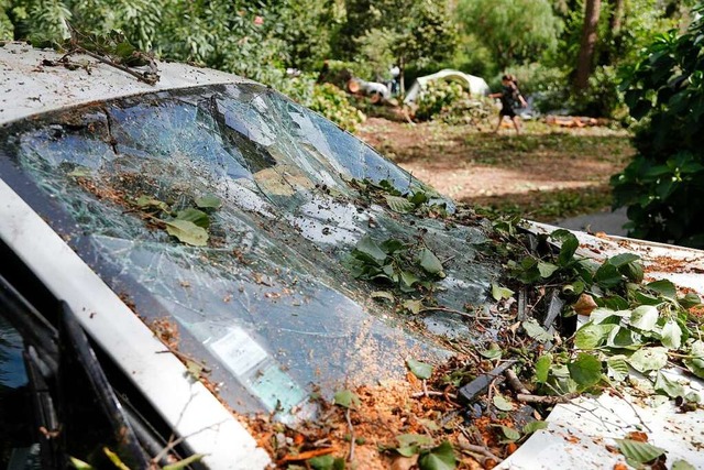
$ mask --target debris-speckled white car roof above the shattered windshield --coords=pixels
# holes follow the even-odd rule
[[[201,85],[252,83],[219,70],[157,61],[160,78],[150,85],[87,55],[69,56],[73,65],[67,67],[59,62],[65,56],[24,42],[0,47],[0,124],[98,100]]]

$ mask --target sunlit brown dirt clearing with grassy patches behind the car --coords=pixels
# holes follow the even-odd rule
[[[543,122],[525,122],[517,135],[507,125],[493,133],[488,124],[370,118],[358,135],[455,200],[513,205],[546,221],[609,206],[608,179],[634,153],[624,130]],[[570,207],[538,207],[554,206],[554,199]]]

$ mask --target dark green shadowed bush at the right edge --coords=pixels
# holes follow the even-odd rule
[[[695,13],[704,13],[700,1]],[[696,18],[696,17],[695,17]],[[626,79],[635,160],[612,177],[629,234],[704,248],[704,19],[656,37]]]

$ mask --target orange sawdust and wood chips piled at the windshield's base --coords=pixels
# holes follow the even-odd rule
[[[428,384],[438,381],[440,369]],[[413,374],[407,379],[354,389],[360,402],[349,411],[319,401],[317,416],[296,426],[283,425],[270,415],[239,418],[280,469],[305,464],[310,456],[320,455],[344,459],[351,468],[416,468],[413,458],[402,458],[394,450],[399,447],[397,437],[403,434],[427,436],[432,439],[432,446],[449,441],[459,469],[491,468],[496,463],[468,450],[469,439],[499,458],[516,450],[517,445],[502,442],[498,427],[514,427],[512,418],[483,416],[469,419],[463,414],[465,407],[453,400],[454,390],[441,392],[436,389],[426,395],[421,381]]]

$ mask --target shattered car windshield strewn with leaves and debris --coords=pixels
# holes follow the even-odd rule
[[[479,222],[439,217],[450,200],[265,87],[125,98],[2,133],[3,179],[235,409],[289,409],[314,385],[399,376],[408,357],[491,337],[458,315],[481,313],[497,275]]]

